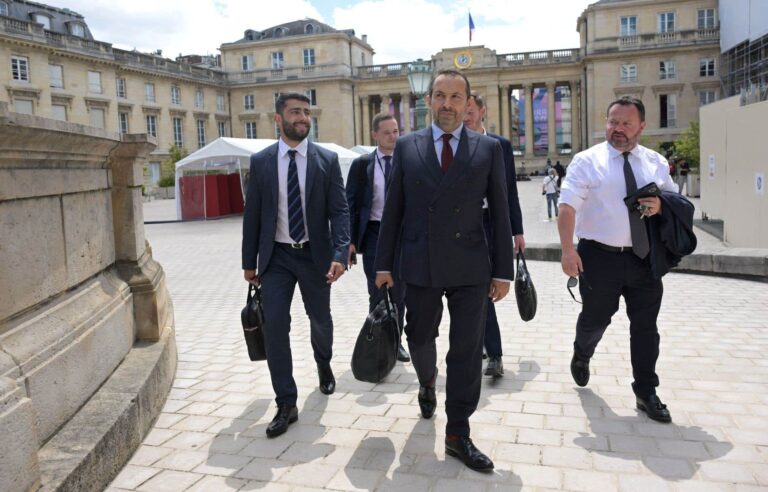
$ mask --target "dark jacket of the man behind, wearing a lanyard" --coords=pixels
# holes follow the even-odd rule
[[[373,172],[376,165],[376,151],[361,155],[349,168],[347,175],[347,203],[349,204],[349,234],[352,244],[362,252],[363,238],[368,228],[373,202]],[[375,244],[367,245],[375,248]]]

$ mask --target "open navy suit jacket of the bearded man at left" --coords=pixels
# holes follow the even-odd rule
[[[269,267],[277,233],[277,150],[270,145],[251,156],[250,180],[243,214],[243,270]],[[304,191],[306,227],[312,259],[323,272],[331,261],[347,264],[349,212],[338,156],[309,143]]]

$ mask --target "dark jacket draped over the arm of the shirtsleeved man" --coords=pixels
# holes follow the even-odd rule
[[[650,232],[651,274],[656,279],[696,249],[693,204],[674,191],[662,191],[660,198],[663,203],[662,213],[652,216],[647,226]]]

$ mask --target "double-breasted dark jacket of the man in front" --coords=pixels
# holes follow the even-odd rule
[[[376,271],[392,271],[402,230],[406,283],[458,287],[513,278],[504,156],[496,140],[464,129],[443,175],[428,127],[401,137],[392,161]],[[483,229],[484,197],[491,211],[492,257]]]

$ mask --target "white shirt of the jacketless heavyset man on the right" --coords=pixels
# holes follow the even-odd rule
[[[658,152],[637,145],[630,152],[629,164],[638,189],[653,181],[662,190],[677,192],[667,160]],[[560,189],[560,203],[576,210],[579,239],[631,247],[626,195],[624,156],[606,141],[574,156]]]

